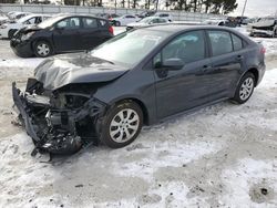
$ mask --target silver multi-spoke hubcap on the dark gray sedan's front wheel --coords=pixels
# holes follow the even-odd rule
[[[110,136],[116,143],[130,141],[140,126],[140,117],[134,110],[120,111],[110,124]]]

